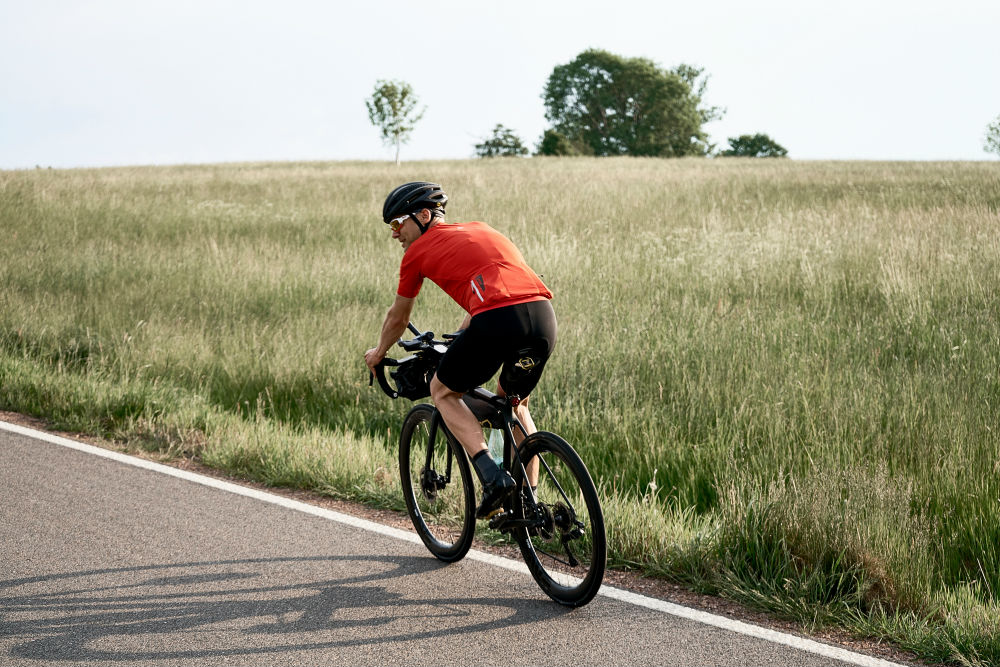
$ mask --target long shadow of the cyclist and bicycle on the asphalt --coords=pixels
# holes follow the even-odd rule
[[[374,573],[325,578],[352,563]],[[442,567],[426,557],[316,556],[0,581],[0,647],[51,662],[266,656],[454,637],[566,613],[547,599],[415,597],[400,584]]]

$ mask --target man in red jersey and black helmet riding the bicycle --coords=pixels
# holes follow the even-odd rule
[[[436,183],[406,183],[393,190],[382,220],[403,246],[396,298],[382,323],[376,347],[365,353],[374,370],[406,330],[414,300],[425,278],[466,311],[459,335],[431,380],[431,396],[449,430],[472,459],[483,485],[476,516],[493,514],[514,488],[514,480],[489,456],[483,430],[462,395],[489,380],[497,370],[497,393],[510,396],[525,433],[535,431],[528,395],[541,377],[556,342],[552,293],[525,263],[520,251],[482,222],[445,223],[448,196]],[[535,486],[538,463],[528,466]]]

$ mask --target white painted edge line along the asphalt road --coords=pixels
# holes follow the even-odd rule
[[[249,487],[240,486],[231,482],[225,482],[213,477],[206,477],[187,470],[179,470],[178,468],[172,468],[170,466],[163,465],[162,463],[146,461],[145,459],[140,459],[135,456],[129,456],[128,454],[122,454],[121,452],[109,449],[102,449],[83,442],[77,442],[76,440],[70,440],[68,438],[52,435],[44,431],[37,431],[35,429],[18,426],[17,424],[9,424],[7,422],[0,421],[0,430],[10,431],[11,433],[17,433],[18,435],[23,435],[35,440],[42,440],[53,445],[68,447],[77,451],[93,454],[94,456],[101,456],[106,459],[111,459],[112,461],[118,461],[119,463],[135,466],[136,468],[143,468],[145,470],[151,470],[164,475],[170,475],[172,477],[184,479],[203,486],[209,486],[221,491],[227,491],[240,496],[254,498],[273,505],[280,505],[281,507],[286,507],[291,510],[329,519],[330,521],[336,521],[338,523],[360,528],[362,530],[368,530],[373,533],[378,533],[380,535],[385,535],[398,540],[421,544],[420,538],[411,532],[399,530],[398,528],[391,528],[389,526],[383,526],[382,524],[375,523],[374,521],[359,519],[349,514],[343,514],[341,512],[335,512],[322,507],[316,507],[298,500],[291,500],[273,493],[267,493],[266,491],[258,491],[257,489],[251,489]],[[501,558],[500,556],[494,556],[493,554],[476,551],[475,549],[469,552],[467,558],[489,563],[490,565],[507,570],[529,574],[527,566],[520,561],[511,560],[509,558]],[[645,607],[646,609],[652,609],[654,611],[670,614],[672,616],[678,616],[680,618],[696,621],[704,625],[711,625],[730,632],[736,632],[748,637],[755,637],[774,644],[781,644],[783,646],[788,646],[807,653],[813,653],[815,655],[832,658],[834,660],[840,660],[853,665],[860,665],[861,667],[902,667],[898,663],[873,658],[871,656],[848,651],[847,649],[837,646],[823,644],[811,639],[804,639],[802,637],[797,637],[784,632],[778,632],[776,630],[770,630],[768,628],[752,625],[750,623],[743,623],[742,621],[736,621],[731,618],[726,618],[725,616],[717,616],[698,609],[690,609],[678,604],[646,597],[645,595],[639,595],[638,593],[632,593],[613,586],[601,586],[599,595],[639,607]]]

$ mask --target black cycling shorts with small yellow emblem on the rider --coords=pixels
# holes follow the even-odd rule
[[[556,314],[548,300],[479,313],[456,338],[438,366],[437,378],[465,393],[501,369],[508,396],[527,398],[556,345]]]

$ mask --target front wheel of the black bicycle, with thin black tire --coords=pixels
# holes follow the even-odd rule
[[[407,513],[427,549],[446,563],[464,558],[476,531],[472,472],[430,405],[414,406],[403,420],[399,473]]]

